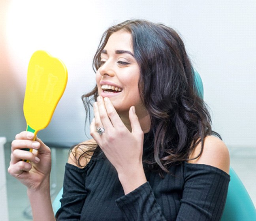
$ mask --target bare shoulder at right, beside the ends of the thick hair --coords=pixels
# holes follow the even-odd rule
[[[190,154],[190,159],[198,156],[200,150],[201,143],[199,143],[192,154]],[[228,148],[222,140],[215,136],[207,136],[204,139],[203,153],[201,156],[188,161],[188,163],[206,164],[229,173],[230,155]]]

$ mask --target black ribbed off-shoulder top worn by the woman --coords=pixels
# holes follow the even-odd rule
[[[144,146],[144,148],[146,148]],[[160,178],[146,172],[147,183],[124,195],[117,172],[105,159],[84,169],[66,164],[59,221],[218,221],[230,176],[209,165],[181,163]]]

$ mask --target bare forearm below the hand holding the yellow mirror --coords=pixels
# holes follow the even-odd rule
[[[28,189],[27,194],[31,204],[33,221],[55,221],[51,205],[49,179],[38,190]]]

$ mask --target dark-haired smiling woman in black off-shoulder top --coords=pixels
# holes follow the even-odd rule
[[[122,22],[103,34],[94,68],[97,85],[83,96],[87,112],[89,98],[96,101],[93,139],[70,153],[56,219],[220,220],[229,154],[179,35],[163,24]],[[32,139],[16,136],[8,171],[28,187],[34,220],[55,220],[50,150]]]

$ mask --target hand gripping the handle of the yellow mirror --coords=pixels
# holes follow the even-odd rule
[[[51,150],[40,139],[34,141],[34,133],[23,131],[11,143],[9,174],[17,178],[28,189],[36,191],[49,184],[51,172]],[[22,150],[32,148],[33,152]],[[22,161],[27,159],[29,162]]]

